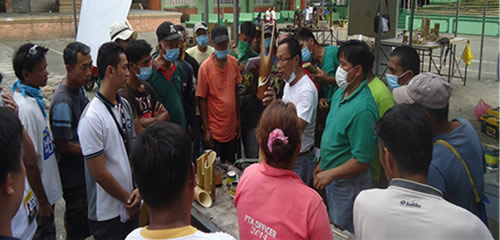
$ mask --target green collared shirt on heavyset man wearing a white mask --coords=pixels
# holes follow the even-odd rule
[[[337,89],[321,140],[321,169],[338,167],[354,158],[371,163],[376,149],[373,127],[378,119],[375,100],[365,80],[348,98]]]

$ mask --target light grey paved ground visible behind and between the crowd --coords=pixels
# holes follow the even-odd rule
[[[479,132],[479,122],[474,117],[474,106],[480,98],[483,98],[491,106],[499,106],[499,82],[497,81],[497,58],[499,54],[499,38],[485,38],[482,77],[478,81],[479,66],[479,36],[463,36],[470,39],[471,49],[476,58],[468,70],[467,86],[463,86],[461,80],[454,79],[453,96],[450,103],[450,118],[465,117],[469,119],[476,130]],[[151,45],[157,44],[154,33],[140,33],[139,38],[147,40]],[[59,80],[64,76],[65,69],[62,59],[64,47],[74,39],[63,38],[54,40],[32,42],[48,47],[50,50],[47,55],[49,70],[49,85],[56,86]],[[0,41],[0,72],[4,75],[4,81],[1,86],[4,91],[11,92],[11,87],[16,80],[12,70],[12,56],[17,47],[28,41]],[[48,91],[50,92],[50,91]],[[89,93],[89,97],[93,96]],[[50,95],[50,94],[49,94]],[[485,134],[479,133],[481,141],[498,145],[498,140],[490,138]],[[64,200],[56,204],[56,221],[58,239],[65,239],[66,234],[63,228],[62,216],[64,213]]]

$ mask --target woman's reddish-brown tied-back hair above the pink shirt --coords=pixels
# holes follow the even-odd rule
[[[268,163],[288,163],[292,160],[300,144],[298,117],[295,105],[276,100],[266,107],[257,126],[257,142]],[[272,144],[273,152],[269,151],[267,141],[269,134],[276,128],[283,131],[288,137],[288,143],[276,139]]]

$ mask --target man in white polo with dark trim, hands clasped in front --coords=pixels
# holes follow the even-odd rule
[[[134,189],[127,154],[135,138],[133,111],[118,95],[118,89],[127,84],[127,65],[117,43],[99,48],[101,88],[78,124],[85,157],[89,230],[96,240],[124,239],[138,223],[141,196]]]

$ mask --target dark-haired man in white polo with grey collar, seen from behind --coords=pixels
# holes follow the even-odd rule
[[[432,130],[421,107],[396,105],[375,131],[390,185],[362,191],[354,201],[356,239],[493,239],[478,217],[426,184]]]

